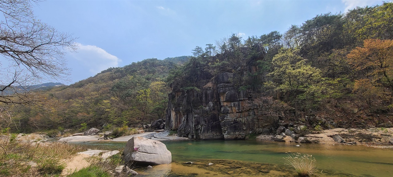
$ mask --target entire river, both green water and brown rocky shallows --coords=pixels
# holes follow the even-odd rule
[[[255,140],[163,141],[172,153],[172,164],[145,168],[145,176],[288,176],[286,152],[312,155],[319,176],[393,177],[393,149],[362,145],[296,144]],[[125,142],[83,142],[91,149],[122,149]],[[300,146],[296,146],[300,145]],[[184,164],[185,162],[194,164]],[[209,162],[214,165],[208,166]],[[154,169],[153,168],[153,169]],[[157,170],[158,169],[158,170]],[[315,175],[316,176],[316,175]]]

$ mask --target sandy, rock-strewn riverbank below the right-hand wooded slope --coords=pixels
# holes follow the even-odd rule
[[[340,136],[344,142],[334,140],[336,136]],[[307,143],[321,144],[359,144],[370,147],[393,148],[393,128],[370,128],[370,129],[329,129],[318,133],[303,135]],[[274,135],[259,135],[256,140],[274,141]],[[294,139],[291,136],[282,138],[283,142],[298,142],[299,138]],[[279,140],[280,141],[280,140]]]

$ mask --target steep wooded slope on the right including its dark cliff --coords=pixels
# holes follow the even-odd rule
[[[165,123],[180,136],[226,140],[279,126],[392,127],[392,39],[393,4],[384,3],[317,15],[285,33],[232,34],[217,41],[217,55],[197,46],[169,77]]]

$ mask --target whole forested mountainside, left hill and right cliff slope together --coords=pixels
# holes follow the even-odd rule
[[[14,119],[20,131],[29,131],[32,124],[139,127],[167,116],[167,126],[196,138],[211,129],[222,130],[214,138],[245,138],[289,123],[309,130],[389,125],[392,22],[393,4],[384,3],[317,15],[283,33],[232,34],[197,46],[189,59],[145,59],[40,92],[56,104],[15,111]]]

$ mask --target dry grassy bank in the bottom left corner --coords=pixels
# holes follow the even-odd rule
[[[10,138],[11,137],[11,138]],[[44,143],[31,146],[5,135],[0,139],[0,176],[40,177],[58,176],[80,147],[64,143]]]

